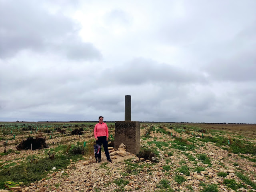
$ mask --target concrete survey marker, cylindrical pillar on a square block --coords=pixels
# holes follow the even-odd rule
[[[140,152],[140,122],[131,121],[132,97],[125,96],[124,121],[116,121],[115,124],[115,149],[121,143],[126,145],[126,150],[138,154]]]

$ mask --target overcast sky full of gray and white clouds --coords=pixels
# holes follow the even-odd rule
[[[0,121],[256,123],[255,0],[0,0]]]

